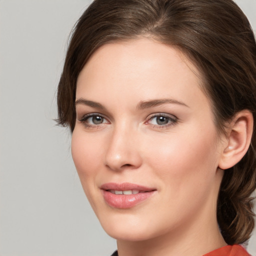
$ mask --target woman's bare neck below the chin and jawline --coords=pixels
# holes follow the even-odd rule
[[[209,251],[226,245],[217,223],[204,226],[173,230],[164,235],[143,241],[117,240],[119,256],[201,256]],[[192,238],[191,238],[192,237]]]

